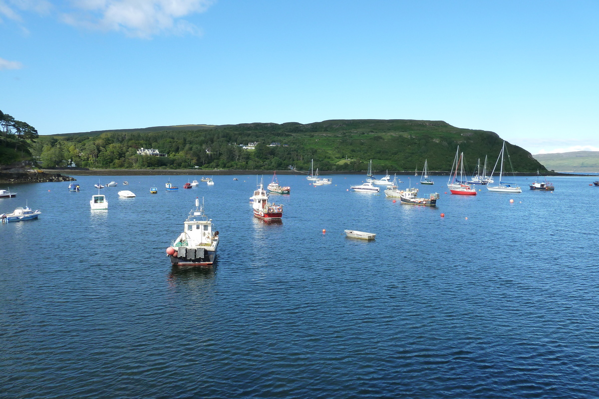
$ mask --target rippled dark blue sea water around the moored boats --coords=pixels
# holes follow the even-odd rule
[[[176,192],[167,176],[102,176],[119,182],[102,190],[107,212],[89,209],[98,177],[75,177],[79,193],[28,184],[0,199],[43,211],[0,225],[1,397],[599,395],[592,178],[468,197],[437,176],[417,186],[441,194],[424,208],[347,191],[364,176],[280,176],[291,195],[271,195],[285,215],[267,224],[249,205],[256,176]],[[217,264],[179,270],[165,249],[195,197],[220,232]]]

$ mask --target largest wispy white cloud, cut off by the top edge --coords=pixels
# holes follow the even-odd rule
[[[183,17],[202,13],[213,0],[72,0],[73,10],[62,13],[72,26],[123,32],[150,38],[159,33],[198,34]]]

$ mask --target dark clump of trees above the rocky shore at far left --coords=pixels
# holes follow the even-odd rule
[[[0,165],[29,159],[29,149],[37,138],[35,127],[0,111]]]

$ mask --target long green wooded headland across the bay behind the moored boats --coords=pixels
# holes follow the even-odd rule
[[[258,142],[255,150],[241,145]],[[493,132],[460,129],[443,121],[328,120],[310,124],[244,123],[107,130],[40,136],[31,153],[44,167],[74,163],[90,168],[282,170],[289,165],[307,170],[373,169],[447,171],[456,149],[473,170],[489,156],[491,167],[502,139]],[[272,145],[276,143],[276,145]],[[527,151],[508,145],[516,172],[546,171]],[[142,156],[138,148],[154,148],[167,157]]]

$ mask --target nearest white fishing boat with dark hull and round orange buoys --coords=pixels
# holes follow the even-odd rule
[[[214,231],[212,219],[205,215],[203,200],[200,207],[196,198],[195,209],[183,222],[183,233],[167,248],[167,255],[173,266],[211,266],[218,245],[219,232]]]

